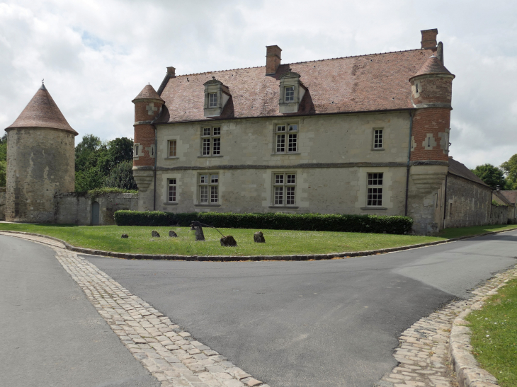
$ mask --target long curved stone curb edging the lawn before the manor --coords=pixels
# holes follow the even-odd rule
[[[502,231],[489,231],[487,233],[481,233],[471,236],[460,236],[459,238],[445,239],[444,241],[435,241],[428,243],[419,243],[416,245],[399,246],[394,248],[381,248],[378,250],[365,250],[365,251],[351,251],[348,253],[329,253],[329,254],[305,254],[305,255],[158,255],[158,254],[130,254],[130,253],[115,253],[113,251],[93,250],[91,248],[81,248],[72,246],[69,243],[62,241],[61,239],[54,238],[53,236],[45,236],[38,233],[27,233],[24,231],[7,231],[0,230],[0,233],[16,233],[28,236],[38,236],[40,238],[52,239],[52,241],[60,242],[64,245],[67,250],[74,251],[76,253],[83,253],[89,255],[101,255],[103,257],[122,258],[126,260],[186,260],[186,261],[216,261],[216,262],[232,262],[232,261],[260,261],[260,260],[286,260],[286,261],[300,261],[300,260],[331,260],[334,258],[350,258],[350,257],[363,257],[366,255],[376,255],[385,253],[394,253],[396,251],[411,250],[414,248],[422,248],[426,246],[441,245],[443,243],[450,243],[455,241],[462,241],[463,239],[477,238],[479,236],[487,236],[496,233],[506,233],[508,231],[515,231],[515,229],[502,230]]]

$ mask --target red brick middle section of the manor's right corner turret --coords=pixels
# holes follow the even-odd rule
[[[413,118],[413,137],[416,146],[411,151],[411,161],[418,160],[436,160],[448,161],[448,154],[443,153],[441,148],[441,137],[438,133],[445,133],[450,127],[450,109],[449,108],[424,108],[416,110]],[[425,149],[422,143],[427,134],[433,134],[436,146],[433,149]]]

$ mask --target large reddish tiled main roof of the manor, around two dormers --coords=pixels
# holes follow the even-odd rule
[[[280,76],[289,69],[307,88],[295,115],[413,108],[411,84],[433,50],[408,50],[281,64],[274,76],[265,67],[213,71],[171,78],[161,93],[166,109],[157,123],[208,120],[203,116],[203,83],[212,79],[229,88],[220,118],[283,116],[278,111]]]

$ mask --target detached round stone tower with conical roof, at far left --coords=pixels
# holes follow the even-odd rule
[[[74,192],[78,133],[43,84],[6,132],[6,220],[53,222],[56,192]]]

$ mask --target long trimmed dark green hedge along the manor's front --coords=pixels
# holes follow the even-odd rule
[[[233,212],[191,212],[173,214],[159,211],[115,212],[118,226],[190,226],[200,221],[225,229],[271,229],[304,231],[347,231],[356,233],[409,233],[413,219],[409,216],[339,215],[339,214],[235,214]]]

